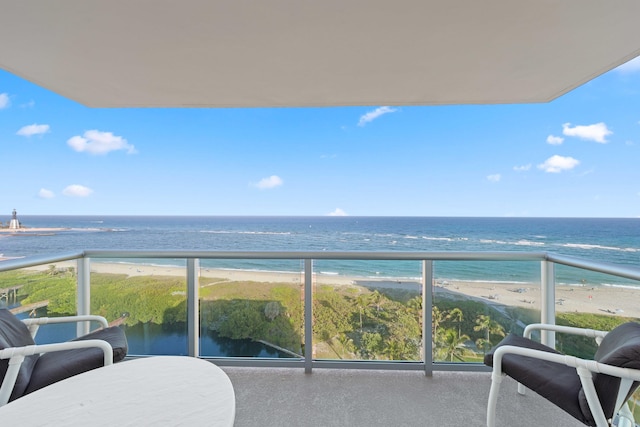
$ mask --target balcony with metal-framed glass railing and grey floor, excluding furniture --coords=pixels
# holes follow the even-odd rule
[[[256,260],[277,271],[251,271]],[[374,261],[411,279],[331,273],[331,263],[357,269]],[[475,280],[445,279],[463,267]],[[512,270],[527,271],[530,280],[484,276]],[[623,284],[602,286],[614,278]],[[490,386],[482,353],[502,334],[540,321],[640,318],[633,288],[640,269],[538,252],[87,250],[4,261],[0,279],[11,283],[0,285],[0,303],[23,316],[106,315],[127,329],[132,357],[211,359],[234,384],[238,426],[481,426]],[[156,307],[156,296],[141,289],[174,302]],[[253,335],[233,336],[239,330]],[[221,335],[222,344],[215,341]],[[553,334],[541,340],[588,350]],[[517,395],[512,381],[501,396],[500,425],[581,425],[533,393]]]

